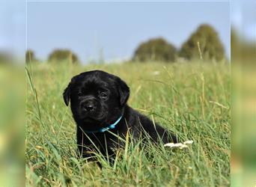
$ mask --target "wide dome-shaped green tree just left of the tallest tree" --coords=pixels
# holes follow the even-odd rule
[[[141,43],[135,49],[134,61],[175,61],[176,49],[162,37],[153,38],[147,42]]]

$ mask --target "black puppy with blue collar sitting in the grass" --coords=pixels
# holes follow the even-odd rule
[[[77,144],[83,157],[91,151],[104,156],[122,146],[116,135],[132,138],[148,135],[152,141],[177,142],[177,138],[127,105],[129,87],[118,76],[94,70],[74,76],[64,90],[64,102],[71,103],[77,125]]]

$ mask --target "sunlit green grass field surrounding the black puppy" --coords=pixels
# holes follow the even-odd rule
[[[114,166],[102,161],[103,169],[78,159],[62,92],[72,76],[95,69],[120,76],[132,108],[194,143],[186,150],[127,144]],[[229,64],[32,64],[28,73],[27,186],[230,186]]]

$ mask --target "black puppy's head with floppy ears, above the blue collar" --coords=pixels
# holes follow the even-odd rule
[[[94,131],[121,116],[129,98],[129,88],[119,77],[95,70],[74,76],[63,93],[66,105],[71,104],[79,126]]]

